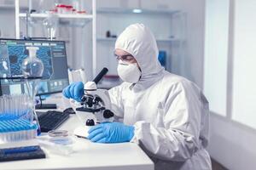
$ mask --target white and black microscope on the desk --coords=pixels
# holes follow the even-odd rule
[[[113,122],[113,112],[111,111],[111,101],[108,90],[97,89],[96,84],[101,81],[102,77],[108,72],[107,68],[96,76],[92,82],[84,84],[84,95],[81,102],[71,102],[73,110],[79,117],[82,126],[74,130],[74,134],[86,138],[91,126],[102,122]]]

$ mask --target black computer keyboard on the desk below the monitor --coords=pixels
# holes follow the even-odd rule
[[[38,122],[41,127],[42,133],[47,133],[50,130],[54,130],[59,127],[63,122],[65,122],[69,114],[61,111],[47,111],[47,112],[39,112],[38,114]]]

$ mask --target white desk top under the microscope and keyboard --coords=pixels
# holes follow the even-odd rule
[[[71,117],[59,129],[73,132],[79,119]],[[44,149],[44,148],[43,148]],[[64,156],[48,150],[46,159],[1,162],[0,169],[93,169],[93,170],[153,170],[154,163],[137,144],[96,144],[75,137],[73,153]]]

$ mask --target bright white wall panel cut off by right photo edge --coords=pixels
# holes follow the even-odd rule
[[[236,0],[234,11],[232,119],[256,129],[256,1]]]

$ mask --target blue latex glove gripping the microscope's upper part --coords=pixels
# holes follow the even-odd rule
[[[68,99],[75,99],[81,101],[84,94],[84,83],[83,82],[73,82],[67,88],[64,88],[62,94]]]

